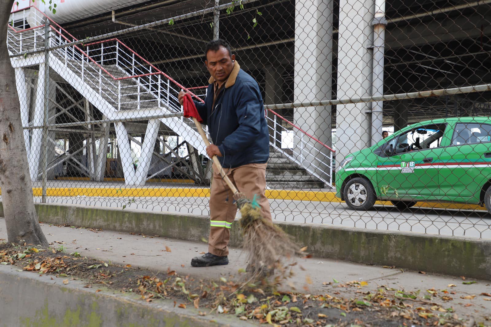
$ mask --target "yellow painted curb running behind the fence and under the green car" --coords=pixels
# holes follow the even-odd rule
[[[34,196],[41,196],[41,188],[32,188]],[[209,197],[209,188],[48,188],[47,196],[99,196],[99,197]],[[1,191],[0,191],[1,195]],[[341,202],[334,192],[266,190],[266,197],[275,200]],[[377,201],[377,205],[391,205],[390,201]],[[417,207],[486,210],[473,204],[418,202]]]

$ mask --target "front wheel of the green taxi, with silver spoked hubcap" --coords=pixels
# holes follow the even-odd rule
[[[377,195],[369,180],[356,177],[346,183],[344,200],[348,207],[353,210],[368,210],[375,204]]]

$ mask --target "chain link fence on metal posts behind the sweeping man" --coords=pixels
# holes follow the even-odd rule
[[[36,202],[208,215],[222,38],[259,84],[273,219],[491,238],[491,1],[20,1],[7,28]],[[99,6],[99,7],[98,7]]]

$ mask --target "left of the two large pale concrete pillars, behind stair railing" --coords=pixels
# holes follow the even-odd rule
[[[332,72],[332,0],[295,2],[295,76],[294,102],[331,99]],[[294,109],[294,122],[308,134],[331,145],[331,107]],[[315,149],[305,147],[305,142]],[[294,154],[302,166],[328,177],[329,151],[320,143],[296,130]],[[321,153],[319,153],[319,151]],[[325,162],[322,165],[315,160]],[[321,159],[323,158],[323,159]]]

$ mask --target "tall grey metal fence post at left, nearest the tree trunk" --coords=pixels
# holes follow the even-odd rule
[[[46,19],[44,26],[44,115],[43,115],[43,157],[41,161],[42,167],[42,196],[41,202],[46,203],[47,182],[48,182],[48,107],[50,93],[50,21]],[[34,149],[35,150],[35,149]]]

